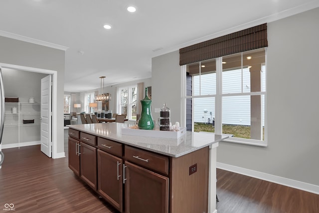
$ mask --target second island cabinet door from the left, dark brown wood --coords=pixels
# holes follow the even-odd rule
[[[96,148],[80,142],[80,177],[93,189],[97,183]]]

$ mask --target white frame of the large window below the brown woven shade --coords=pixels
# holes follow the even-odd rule
[[[222,98],[226,96],[242,96],[242,95],[264,95],[264,140],[255,140],[255,139],[245,139],[245,138],[234,138],[229,137],[228,139],[224,140],[227,142],[232,143],[240,143],[240,144],[248,144],[248,145],[256,145],[256,146],[268,146],[268,139],[267,139],[267,47],[265,49],[265,84],[266,90],[260,92],[242,92],[242,93],[230,93],[230,94],[223,94],[222,93],[222,57],[215,58],[216,59],[216,94],[213,95],[186,95],[186,70],[187,65],[181,66],[181,110],[182,110],[182,125],[186,125],[186,100],[191,98],[203,98],[203,97],[214,97],[215,98],[215,134],[221,135],[222,134]],[[193,78],[193,77],[192,77]],[[193,85],[192,85],[193,89]],[[193,112],[193,105],[192,105],[192,112]],[[194,113],[192,113],[192,131],[194,130]]]

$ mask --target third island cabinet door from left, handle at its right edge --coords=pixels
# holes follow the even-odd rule
[[[120,212],[123,210],[122,161],[98,150],[98,192]]]

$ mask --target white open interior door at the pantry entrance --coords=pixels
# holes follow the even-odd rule
[[[52,156],[52,75],[41,79],[41,152],[51,158]]]

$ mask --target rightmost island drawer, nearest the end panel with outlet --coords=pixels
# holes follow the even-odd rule
[[[125,146],[125,159],[142,167],[168,175],[168,157]]]

